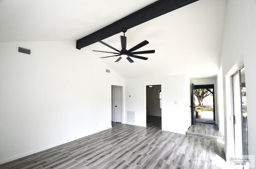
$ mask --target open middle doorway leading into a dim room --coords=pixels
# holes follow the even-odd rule
[[[162,130],[162,87],[146,86],[146,126]]]

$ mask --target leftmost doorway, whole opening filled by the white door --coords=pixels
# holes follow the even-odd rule
[[[123,122],[123,87],[111,86],[111,120],[112,122]]]

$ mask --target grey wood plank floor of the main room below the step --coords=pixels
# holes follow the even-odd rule
[[[216,140],[112,123],[112,128],[0,165],[0,169],[220,169],[224,147]],[[178,127],[178,126],[177,126]]]

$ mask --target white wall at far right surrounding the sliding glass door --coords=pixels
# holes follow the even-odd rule
[[[230,76],[243,63],[246,79],[246,96],[248,111],[248,150],[249,155],[256,155],[256,1],[255,0],[226,0],[225,24],[222,52],[220,57],[220,72],[222,67],[223,81],[223,112],[225,130],[225,150],[227,159],[234,157],[232,143],[231,91]],[[219,75],[221,76],[221,75]],[[218,83],[219,83],[218,77]],[[219,85],[219,84],[218,84]]]

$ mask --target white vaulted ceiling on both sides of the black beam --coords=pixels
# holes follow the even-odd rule
[[[0,42],[77,40],[155,1],[0,0]],[[148,60],[101,60],[126,79],[183,73],[191,78],[212,77],[218,72],[224,9],[225,0],[199,0],[169,12],[126,32],[127,49],[149,41],[137,50],[155,49],[154,54],[141,55]],[[103,41],[120,49],[120,35]],[[85,48],[113,51],[100,43],[81,50]]]

